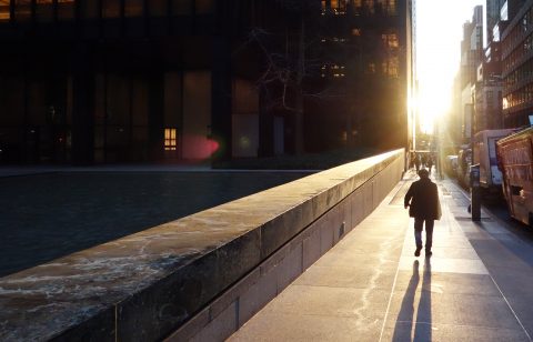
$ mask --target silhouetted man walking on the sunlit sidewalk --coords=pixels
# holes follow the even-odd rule
[[[415,256],[422,250],[422,229],[425,222],[425,256],[431,256],[433,243],[434,220],[441,219],[441,204],[436,184],[430,180],[430,172],[425,169],[419,171],[420,180],[413,182],[403,200],[409,215],[414,218],[414,240],[416,242]]]

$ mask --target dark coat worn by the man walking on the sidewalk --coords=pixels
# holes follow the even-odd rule
[[[423,220],[441,219],[441,204],[439,203],[436,184],[429,178],[422,178],[411,184],[403,200],[405,207],[410,201],[409,215],[411,218]]]

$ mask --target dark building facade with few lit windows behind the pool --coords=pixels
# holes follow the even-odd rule
[[[299,130],[306,151],[404,147],[406,1],[290,2],[0,0],[0,163],[253,158],[295,152]],[[270,101],[286,83],[258,86],[286,41],[300,58],[299,18],[320,37],[302,123]]]

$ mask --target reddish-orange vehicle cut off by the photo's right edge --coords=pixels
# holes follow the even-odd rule
[[[503,194],[514,219],[533,225],[533,128],[496,142]]]

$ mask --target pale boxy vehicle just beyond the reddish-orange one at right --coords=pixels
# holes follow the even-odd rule
[[[474,162],[480,164],[480,184],[492,192],[502,185],[502,172],[497,169],[496,141],[516,132],[513,129],[480,131],[474,135]]]

